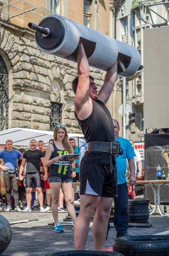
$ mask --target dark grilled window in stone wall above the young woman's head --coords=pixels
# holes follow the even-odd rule
[[[50,114],[50,130],[54,131],[57,124],[62,122],[62,104],[52,103]]]

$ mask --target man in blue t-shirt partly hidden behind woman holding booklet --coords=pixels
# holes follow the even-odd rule
[[[69,138],[69,143],[74,150],[74,154],[79,154],[79,147],[76,145],[74,138]],[[73,182],[80,182],[80,177],[79,177],[80,168],[79,167],[80,166],[79,166],[79,158],[78,158],[78,159],[74,160],[74,163],[72,163],[72,168],[76,172],[76,176],[73,177]],[[74,191],[74,194],[77,193],[77,186],[73,186],[73,191]],[[74,200],[77,200],[76,195],[74,195]]]

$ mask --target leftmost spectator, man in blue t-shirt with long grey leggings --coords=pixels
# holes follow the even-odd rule
[[[18,206],[18,185],[16,179],[17,170],[17,159],[22,160],[22,154],[12,148],[13,142],[11,140],[6,141],[6,150],[0,152],[0,158],[3,159],[4,166],[0,165],[0,169],[3,169],[3,178],[6,186],[6,200],[7,200],[7,209],[6,212],[11,211],[11,184],[14,192],[14,210],[21,212],[20,207]]]

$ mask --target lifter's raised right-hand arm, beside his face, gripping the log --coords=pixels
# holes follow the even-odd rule
[[[102,85],[100,92],[98,93],[99,99],[106,104],[110,98],[113,87],[115,85],[115,81],[117,79],[117,60],[113,64],[112,67],[106,73],[104,78],[104,84]]]

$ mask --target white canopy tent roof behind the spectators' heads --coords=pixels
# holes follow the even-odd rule
[[[84,138],[83,134],[68,133],[69,137]],[[14,146],[29,147],[30,140],[43,140],[45,145],[53,138],[53,131],[43,131],[27,128],[11,128],[0,131],[0,145],[6,145],[6,140],[12,140]]]

